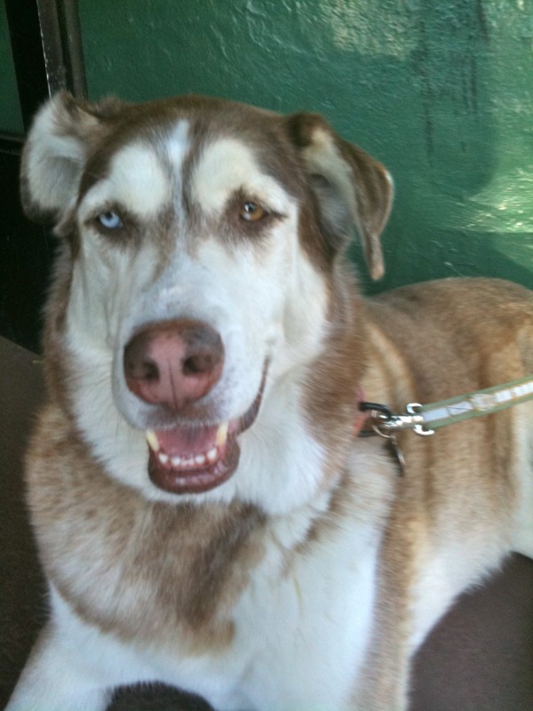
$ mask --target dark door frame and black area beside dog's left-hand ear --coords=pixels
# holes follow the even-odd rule
[[[84,60],[76,0],[5,0],[5,11],[23,131],[0,127],[0,335],[37,351],[54,240],[20,207],[23,132],[53,93],[86,95]]]

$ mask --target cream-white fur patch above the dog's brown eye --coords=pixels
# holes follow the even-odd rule
[[[287,209],[282,185],[261,170],[251,148],[237,139],[220,139],[203,150],[191,180],[192,196],[203,212],[220,212],[235,191],[264,200],[273,210]]]

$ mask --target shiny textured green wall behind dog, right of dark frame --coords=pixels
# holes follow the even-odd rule
[[[455,275],[533,287],[531,0],[79,5],[91,98],[311,109],[383,161],[396,203],[372,288]]]

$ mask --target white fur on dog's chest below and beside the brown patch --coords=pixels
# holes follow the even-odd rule
[[[370,529],[304,544],[287,563],[274,524],[270,554],[235,605],[235,636],[224,650],[184,655],[142,641],[119,643],[82,622],[52,591],[55,619],[85,672],[115,686],[162,681],[202,695],[217,711],[341,711],[369,641],[377,544]],[[277,531],[276,531],[277,528]]]

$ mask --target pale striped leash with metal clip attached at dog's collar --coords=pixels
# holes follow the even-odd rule
[[[438,403],[409,403],[402,415],[395,415],[384,404],[362,401],[359,403],[360,414],[355,423],[355,435],[385,437],[402,475],[405,459],[396,442],[396,432],[410,429],[416,435],[434,435],[440,427],[483,417],[528,400],[533,400],[533,375],[474,393],[450,397]],[[370,430],[363,429],[367,420],[371,423]]]

